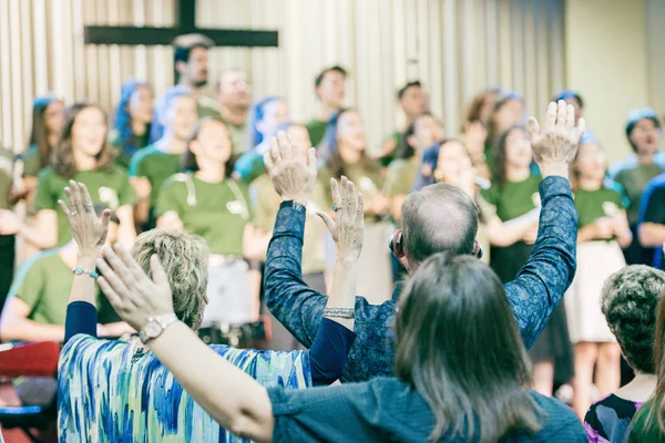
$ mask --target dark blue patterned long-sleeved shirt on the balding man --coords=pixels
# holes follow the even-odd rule
[[[505,292],[526,348],[550,321],[552,312],[575,275],[577,209],[570,183],[548,177],[540,185],[542,210],[538,240],[529,261]],[[321,321],[327,296],[304,281],[300,260],[305,208],[285,202],[277,213],[265,267],[266,303],[273,315],[306,347],[310,347]],[[395,351],[389,333],[399,299],[369,305],[356,297],[356,341],[349,352],[342,381],[365,381],[391,375]]]

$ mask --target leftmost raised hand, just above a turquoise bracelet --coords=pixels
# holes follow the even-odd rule
[[[72,234],[79,245],[79,254],[96,257],[106,241],[111,210],[104,209],[100,220],[94,213],[90,193],[82,183],[70,181],[64,193],[69,198],[71,209],[62,200],[58,200],[58,204],[72,227]]]

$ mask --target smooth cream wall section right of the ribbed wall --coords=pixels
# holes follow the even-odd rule
[[[644,1],[567,0],[565,54],[567,85],[585,101],[587,127],[610,162],[622,158],[632,152],[624,132],[630,110],[653,104]]]

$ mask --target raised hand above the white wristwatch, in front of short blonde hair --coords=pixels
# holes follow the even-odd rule
[[[168,277],[156,255],[150,258],[152,279],[122,246],[115,251],[106,246],[103,255],[105,260],[96,261],[103,276],[98,282],[115,312],[132,328],[140,331],[151,317],[173,312]]]

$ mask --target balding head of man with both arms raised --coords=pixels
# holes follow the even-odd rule
[[[449,184],[409,194],[401,218],[403,250],[411,268],[437,253],[473,254],[478,216],[475,202]]]

